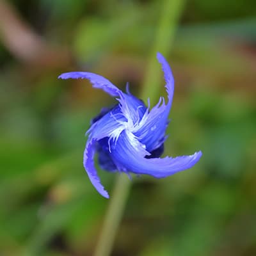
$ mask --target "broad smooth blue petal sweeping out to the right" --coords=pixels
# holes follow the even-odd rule
[[[111,157],[119,170],[136,174],[147,174],[164,178],[194,166],[202,156],[196,152],[191,156],[145,158],[147,150],[132,134],[124,131],[116,145],[111,148]]]

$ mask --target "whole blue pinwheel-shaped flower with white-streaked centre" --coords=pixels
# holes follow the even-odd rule
[[[111,109],[102,109],[86,132],[88,141],[84,150],[84,168],[93,186],[106,198],[109,198],[108,192],[100,183],[94,166],[96,152],[104,170],[147,174],[158,179],[191,168],[202,156],[199,151],[191,156],[159,158],[166,140],[164,133],[172,106],[174,79],[170,66],[160,53],[157,53],[157,60],[163,68],[168,102],[165,103],[164,97],[160,97],[152,109],[149,100],[146,107],[142,100],[129,92],[128,87],[124,93],[108,79],[97,74],[68,72],[59,76],[61,79],[88,79],[94,88],[104,90],[119,102]]]

